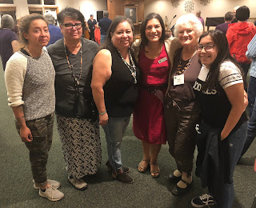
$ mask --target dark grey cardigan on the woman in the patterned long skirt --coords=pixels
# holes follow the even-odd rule
[[[86,90],[92,96],[90,91],[90,82],[92,74],[92,63],[95,54],[98,51],[98,45],[95,42],[81,38],[82,42],[82,77],[80,79],[79,90]],[[74,78],[70,73],[66,61],[63,39],[47,47],[50,58],[54,63],[55,76],[55,93],[56,93],[56,114],[65,117],[76,117],[77,90],[74,86]],[[74,65],[73,72],[79,77],[80,74],[80,52],[71,54],[67,50],[70,64]]]

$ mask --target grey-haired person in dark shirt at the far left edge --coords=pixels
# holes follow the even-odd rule
[[[0,56],[2,58],[3,70],[6,62],[19,50],[18,36],[12,31],[14,29],[14,18],[9,14],[2,15],[0,28]]]

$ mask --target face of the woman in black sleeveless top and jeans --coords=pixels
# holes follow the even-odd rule
[[[114,30],[114,33],[111,33],[111,40],[118,50],[128,49],[134,40],[130,23],[127,21],[120,22]]]

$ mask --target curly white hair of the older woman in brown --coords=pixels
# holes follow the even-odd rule
[[[178,37],[178,28],[179,26],[186,25],[190,23],[193,27],[194,32],[197,34],[197,38],[202,34],[202,22],[194,14],[185,14],[177,19],[177,22],[174,26],[174,36]]]

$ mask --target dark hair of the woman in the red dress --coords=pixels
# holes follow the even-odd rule
[[[166,29],[165,29],[165,23],[162,20],[162,17],[160,14],[156,13],[150,13],[146,15],[146,18],[144,18],[142,22],[142,27],[141,27],[141,36],[142,36],[142,44],[141,47],[144,49],[145,46],[149,43],[149,40],[146,38],[146,24],[149,22],[150,19],[156,18],[160,22],[160,25],[162,26],[162,36],[160,38],[160,42],[164,42],[166,38]]]

